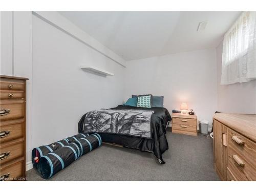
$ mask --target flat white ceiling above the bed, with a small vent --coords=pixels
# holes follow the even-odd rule
[[[241,12],[59,12],[125,60],[217,47]],[[204,31],[199,22],[208,20]]]

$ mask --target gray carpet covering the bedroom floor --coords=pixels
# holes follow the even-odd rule
[[[152,153],[103,144],[83,155],[50,181],[216,181],[213,140],[199,134],[166,134],[169,150],[159,164]],[[35,169],[29,181],[42,181]]]

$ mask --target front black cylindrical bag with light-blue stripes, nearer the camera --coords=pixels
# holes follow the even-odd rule
[[[86,138],[74,140],[70,144],[40,157],[37,168],[41,177],[45,179],[52,177],[80,156],[99,147],[101,142],[101,137],[95,133]]]

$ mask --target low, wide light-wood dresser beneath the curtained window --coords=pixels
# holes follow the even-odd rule
[[[214,115],[215,170],[224,181],[256,180],[256,115]]]

